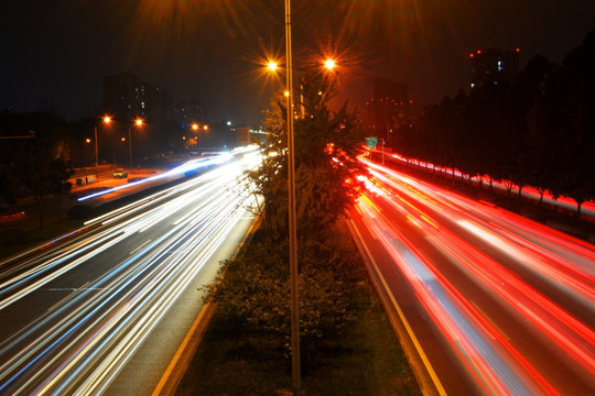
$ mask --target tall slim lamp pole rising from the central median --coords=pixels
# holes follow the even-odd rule
[[[295,163],[293,139],[293,67],[291,61],[291,4],[285,0],[285,63],[288,85],[288,165],[289,165],[289,223],[290,223],[290,288],[291,288],[291,352],[293,395],[301,392],[300,374],[300,311],[298,289],[298,231],[295,224]]]

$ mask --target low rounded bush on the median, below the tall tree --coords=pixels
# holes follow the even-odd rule
[[[309,364],[316,345],[339,334],[355,316],[349,307],[353,284],[340,271],[348,265],[327,242],[301,242],[300,333],[304,363]],[[238,339],[256,331],[259,337],[277,340],[273,343],[289,356],[291,295],[286,252],[285,240],[252,242],[244,255],[223,263],[216,282],[205,286],[205,300],[218,302],[218,312],[232,324]]]

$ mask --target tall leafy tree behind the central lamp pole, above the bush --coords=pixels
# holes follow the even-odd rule
[[[328,100],[336,84],[323,74],[305,73],[302,81],[303,114],[294,122],[295,190],[299,232],[324,233],[355,200],[365,173],[357,161],[364,144],[356,111],[344,103],[331,111]],[[286,103],[278,97],[266,112],[268,135],[262,144],[260,168],[250,172],[264,197],[266,224],[275,232],[288,230]]]

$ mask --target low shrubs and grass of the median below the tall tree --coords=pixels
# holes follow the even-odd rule
[[[304,395],[419,395],[343,222],[300,240]],[[206,299],[217,311],[176,395],[291,394],[286,241],[259,231],[221,266]]]

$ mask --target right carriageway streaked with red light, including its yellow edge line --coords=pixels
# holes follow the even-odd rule
[[[366,163],[351,232],[424,388],[594,395],[595,246]]]

